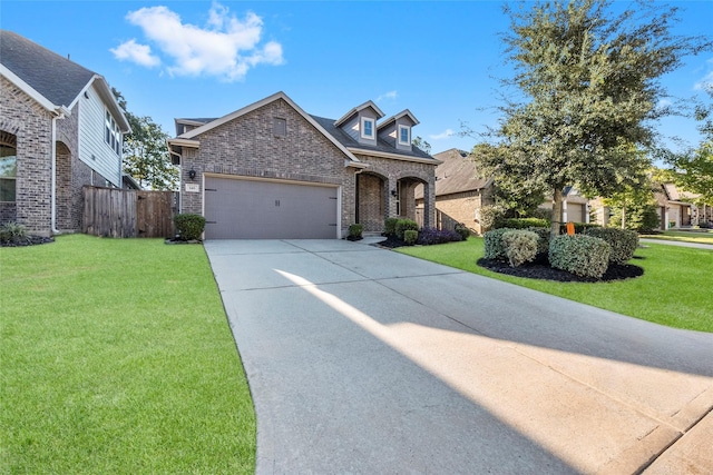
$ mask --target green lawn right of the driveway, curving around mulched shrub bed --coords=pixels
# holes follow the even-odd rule
[[[556,283],[511,277],[479,267],[482,238],[439,246],[402,247],[400,253],[505,280],[570,300],[661,325],[713,333],[713,250],[647,245],[632,260],[644,268],[635,279],[609,283]]]

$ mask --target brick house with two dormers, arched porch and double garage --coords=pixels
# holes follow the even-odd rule
[[[343,238],[381,232],[391,216],[434,218],[440,161],[411,145],[418,120],[367,101],[334,120],[277,92],[218,119],[176,119],[180,212],[206,218],[205,238]],[[381,122],[379,122],[381,120]]]

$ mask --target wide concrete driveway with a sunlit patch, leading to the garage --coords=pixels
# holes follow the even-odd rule
[[[360,243],[205,249],[258,474],[713,469],[713,334]]]

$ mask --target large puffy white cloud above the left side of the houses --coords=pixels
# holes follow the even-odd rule
[[[241,20],[217,2],[208,11],[205,28],[184,23],[167,7],[145,7],[129,12],[126,18],[141,28],[146,39],[163,53],[165,62],[169,63],[169,75],[215,76],[235,81],[244,79],[247,71],[257,65],[284,62],[282,44],[275,41],[260,44],[263,33],[260,17],[248,12]],[[131,41],[120,44],[116,50]],[[141,47],[136,42],[134,44]],[[136,60],[135,56],[126,59],[147,66]]]

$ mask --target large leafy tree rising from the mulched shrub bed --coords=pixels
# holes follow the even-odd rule
[[[496,181],[553,195],[553,234],[559,232],[563,189],[609,196],[639,179],[638,150],[654,138],[665,91],[658,79],[706,44],[671,33],[676,9],[638,2],[554,0],[505,8],[505,36],[515,95],[499,109],[496,136],[505,154],[476,156]],[[530,7],[531,8],[528,8]],[[515,99],[514,99],[515,97]]]

